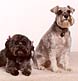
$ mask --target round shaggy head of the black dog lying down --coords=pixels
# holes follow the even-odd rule
[[[16,34],[12,38],[9,37],[5,43],[7,50],[7,56],[14,57],[27,57],[30,58],[32,51],[34,51],[34,46],[32,42],[23,35]]]

